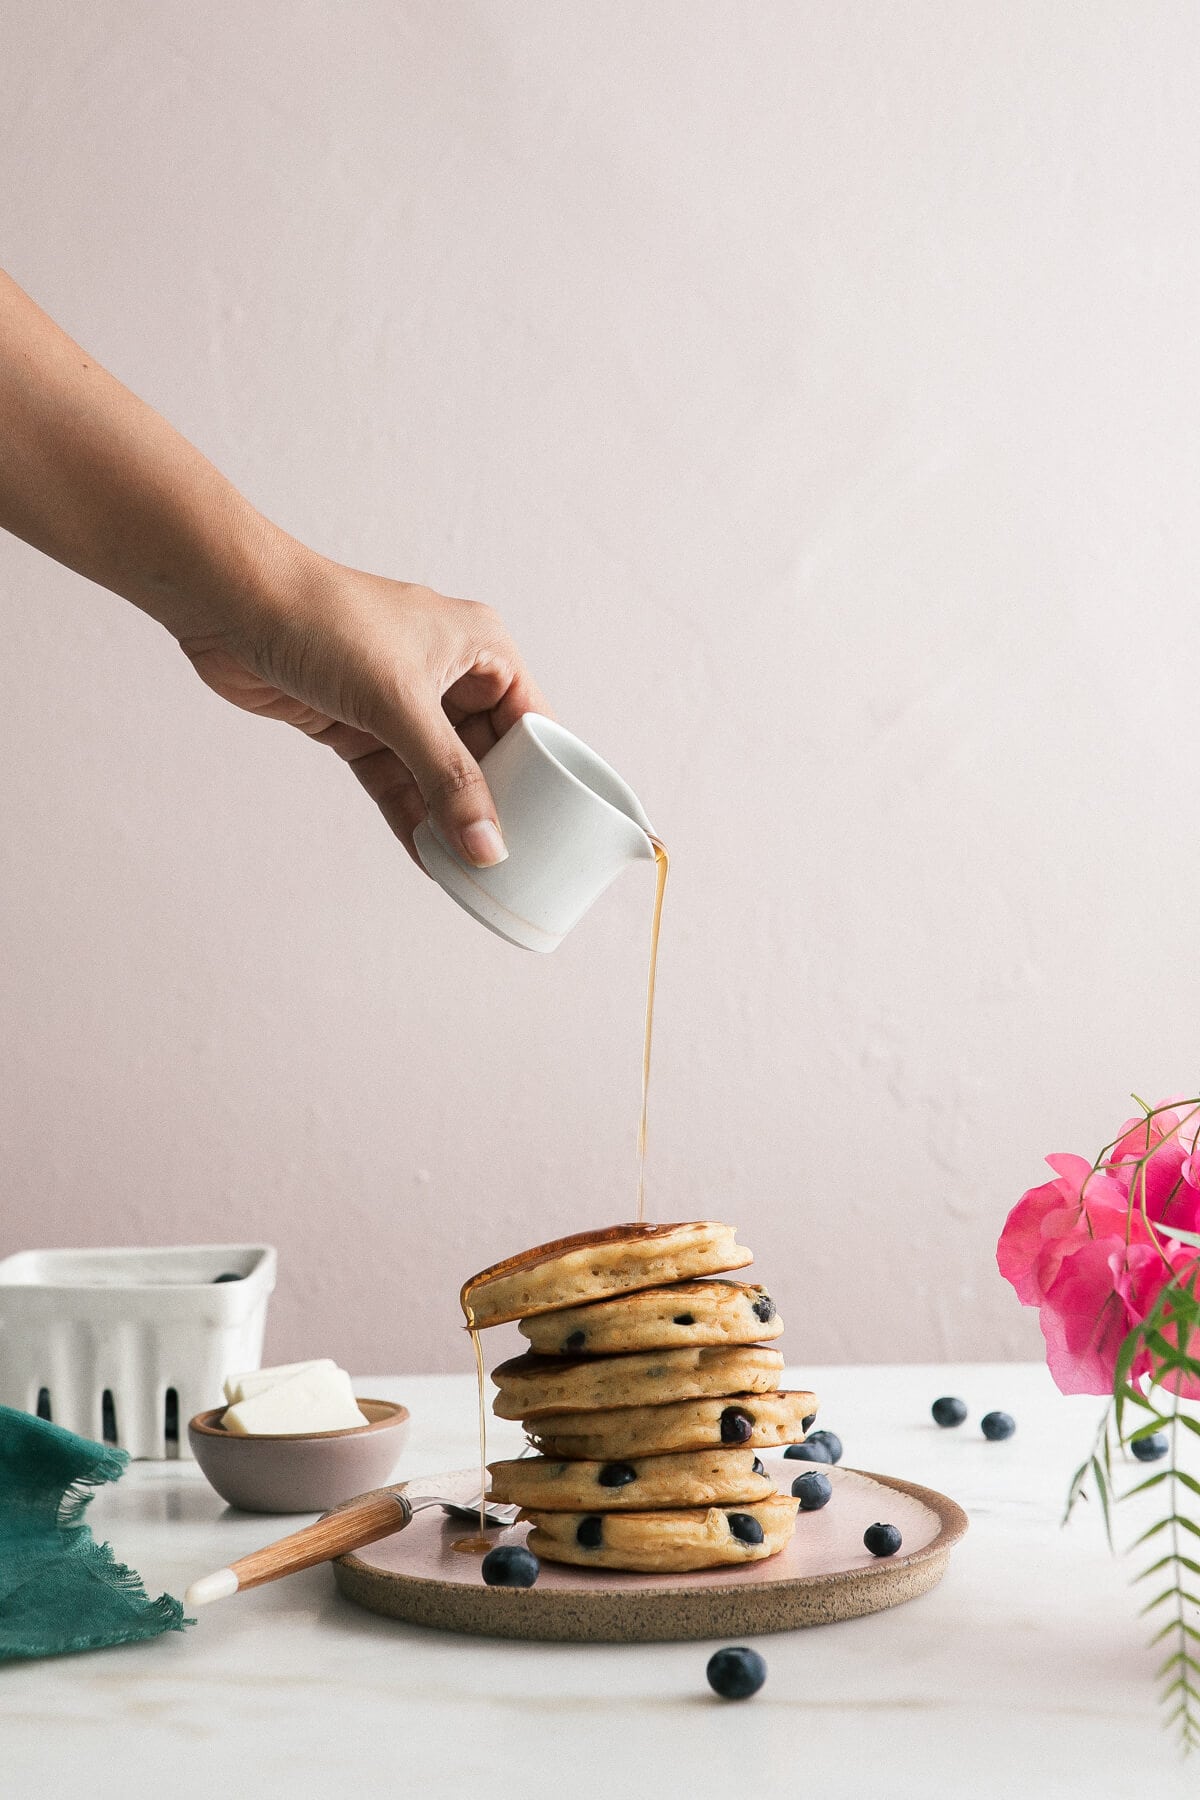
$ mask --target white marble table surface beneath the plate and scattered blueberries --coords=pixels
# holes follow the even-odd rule
[[[799,1377],[799,1372],[797,1372]],[[709,1694],[711,1643],[498,1643],[342,1600],[327,1568],[250,1591],[153,1643],[0,1667],[0,1793],[232,1800],[1108,1800],[1200,1793],[1160,1728],[1141,1595],[1099,1521],[1060,1530],[1099,1400],[1043,1368],[806,1368],[849,1467],[941,1489],[972,1530],[934,1593],[765,1636],[750,1701]],[[363,1377],[403,1399],[401,1474],[475,1453],[470,1375]],[[939,1393],[972,1418],[939,1431]],[[1018,1420],[988,1444],[979,1417]],[[497,1426],[495,1451],[518,1429]],[[225,1508],[193,1463],[139,1463],[92,1507],[151,1593],[293,1530]],[[1133,1535],[1132,1526],[1124,1535]]]

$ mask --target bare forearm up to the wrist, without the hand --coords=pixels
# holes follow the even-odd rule
[[[0,526],[176,637],[250,625],[309,558],[4,272]]]

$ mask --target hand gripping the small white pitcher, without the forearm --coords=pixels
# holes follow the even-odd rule
[[[417,866],[412,833],[426,815],[468,862],[502,862],[479,758],[545,702],[498,616],[300,545],[282,562],[282,599],[219,605],[216,630],[180,637],[200,679],[336,751]]]

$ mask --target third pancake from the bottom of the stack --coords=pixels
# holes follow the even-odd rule
[[[815,1411],[815,1393],[739,1393],[667,1406],[617,1406],[604,1413],[552,1413],[527,1436],[543,1456],[635,1462],[639,1456],[721,1445],[757,1451],[799,1444],[804,1420]]]

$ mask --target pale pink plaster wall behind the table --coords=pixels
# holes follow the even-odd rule
[[[1191,4],[4,5],[0,261],[642,794],[651,1206],[797,1359],[1034,1352],[1006,1208],[1198,1078],[1198,81]],[[525,956],[13,540],[0,630],[0,1253],[261,1235],[270,1355],[468,1366],[630,1213],[649,873]]]

